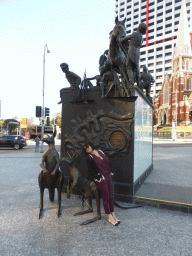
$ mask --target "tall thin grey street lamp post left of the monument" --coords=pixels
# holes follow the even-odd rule
[[[47,44],[44,45],[44,55],[43,55],[43,104],[41,110],[41,122],[42,122],[42,131],[41,131],[41,150],[43,153],[43,135],[44,135],[44,121],[45,121],[45,109],[44,109],[44,96],[45,96],[45,50],[47,49],[47,53],[50,53],[48,50]]]

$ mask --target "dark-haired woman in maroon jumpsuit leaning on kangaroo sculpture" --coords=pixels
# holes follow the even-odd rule
[[[84,150],[88,154],[88,179],[94,180],[98,189],[101,191],[103,207],[105,214],[108,215],[108,221],[117,226],[120,221],[115,217],[113,205],[113,182],[110,162],[101,150],[96,150],[93,143],[84,145]]]

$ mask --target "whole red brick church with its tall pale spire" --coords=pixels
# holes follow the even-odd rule
[[[182,1],[172,75],[165,75],[161,90],[153,98],[158,125],[192,123],[192,42],[186,4]]]

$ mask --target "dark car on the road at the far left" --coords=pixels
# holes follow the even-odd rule
[[[13,147],[14,149],[21,149],[27,146],[27,141],[21,135],[4,135],[0,137],[0,147]]]

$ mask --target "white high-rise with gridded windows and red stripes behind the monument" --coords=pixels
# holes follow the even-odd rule
[[[147,66],[156,81],[151,96],[160,91],[165,75],[172,73],[182,1],[186,4],[192,47],[192,0],[115,0],[115,16],[126,19],[127,34],[136,31],[141,22],[148,26],[143,36],[140,67],[142,72],[142,67]]]

